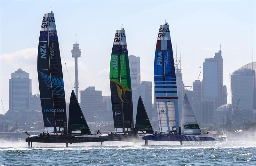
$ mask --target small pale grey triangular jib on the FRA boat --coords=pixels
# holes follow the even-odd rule
[[[181,133],[202,134],[186,93],[184,96],[183,110],[181,116]]]

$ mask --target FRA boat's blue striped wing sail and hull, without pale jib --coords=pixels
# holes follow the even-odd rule
[[[154,62],[155,99],[160,133],[142,137],[145,145],[152,141],[205,141],[211,137],[181,134],[178,110],[177,83],[172,42],[168,23],[160,25]]]

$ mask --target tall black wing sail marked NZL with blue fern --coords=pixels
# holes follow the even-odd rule
[[[44,14],[38,45],[37,73],[45,132],[67,133],[60,49],[54,14]]]

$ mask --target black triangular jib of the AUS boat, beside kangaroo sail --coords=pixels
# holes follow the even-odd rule
[[[146,131],[147,134],[154,133],[151,123],[148,119],[148,114],[142,102],[141,96],[138,101],[135,129],[137,131]]]

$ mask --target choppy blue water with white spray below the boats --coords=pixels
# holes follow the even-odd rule
[[[2,165],[256,165],[256,140],[208,142],[1,143]],[[49,147],[51,146],[51,147]]]

